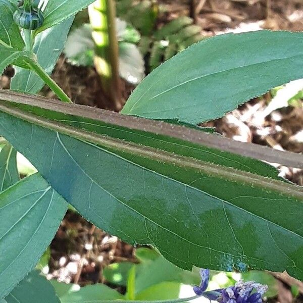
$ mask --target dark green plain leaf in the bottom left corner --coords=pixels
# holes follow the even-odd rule
[[[5,298],[7,303],[60,303],[51,282],[34,270]]]

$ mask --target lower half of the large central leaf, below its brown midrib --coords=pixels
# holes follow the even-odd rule
[[[233,187],[228,175],[214,179],[189,166],[177,166],[176,170],[180,163],[174,162],[174,155],[159,162],[160,158],[146,160],[126,149],[119,153],[101,141],[98,146],[85,143],[62,134],[62,125],[51,131],[3,113],[0,120],[4,135],[69,203],[89,221],[123,240],[153,244],[184,269],[196,265],[245,271],[249,266],[287,269],[295,277],[302,276],[303,204],[299,196],[277,194],[248,180],[247,185]],[[15,132],[10,134],[9,125],[14,125],[18,139]],[[50,127],[49,122],[47,125]],[[32,133],[31,144],[26,139],[28,133]],[[120,143],[125,144],[123,140]],[[160,154],[155,151],[156,156]],[[275,182],[283,187],[279,181],[271,180],[270,184]],[[122,228],[121,218],[125,222]]]

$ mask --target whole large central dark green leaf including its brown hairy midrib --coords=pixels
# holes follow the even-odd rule
[[[303,278],[303,193],[266,165],[110,123],[0,109],[0,133],[98,227],[153,244],[184,269],[286,269]]]

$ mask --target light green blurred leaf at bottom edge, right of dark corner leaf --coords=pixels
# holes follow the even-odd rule
[[[117,290],[105,284],[95,284],[82,287],[79,291],[74,291],[60,297],[61,303],[102,303],[104,300],[123,300],[124,296]]]

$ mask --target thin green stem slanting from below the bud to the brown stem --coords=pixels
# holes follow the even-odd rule
[[[69,96],[62,90],[62,88],[44,71],[44,69],[33,59],[28,59],[26,64],[34,70],[37,75],[51,88],[54,93],[66,103],[72,103]]]

